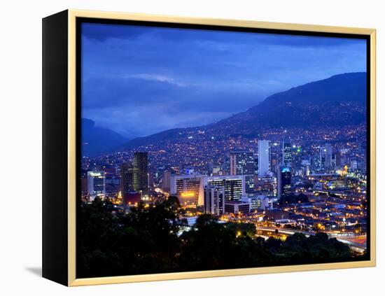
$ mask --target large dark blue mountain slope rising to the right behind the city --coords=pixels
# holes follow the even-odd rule
[[[169,129],[132,139],[118,150],[185,139],[186,134],[198,130],[210,136],[256,136],[272,128],[359,125],[366,120],[366,97],[366,73],[343,73],[273,94],[245,112],[210,125]]]

